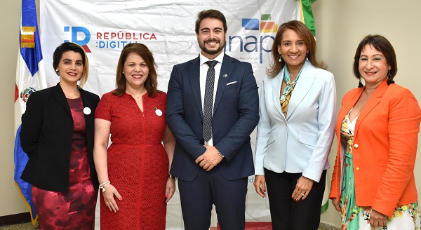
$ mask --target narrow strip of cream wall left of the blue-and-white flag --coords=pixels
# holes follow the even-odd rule
[[[13,180],[14,98],[21,1],[0,1],[0,217],[27,212]]]

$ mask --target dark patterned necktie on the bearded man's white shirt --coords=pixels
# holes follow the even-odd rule
[[[207,61],[205,99],[203,100],[203,139],[208,142],[212,138],[213,85],[215,83],[215,65],[218,61]]]

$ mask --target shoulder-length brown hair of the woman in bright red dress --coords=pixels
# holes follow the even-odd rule
[[[140,55],[140,57],[142,57],[147,67],[149,68],[149,76],[147,76],[144,86],[149,97],[155,97],[156,93],[159,91],[157,88],[158,76],[156,75],[155,69],[156,63],[152,52],[142,43],[128,43],[126,46],[124,46],[123,50],[121,50],[119,63],[117,64],[116,90],[113,92],[114,95],[120,97],[126,93],[126,77],[123,74],[123,69],[124,62],[126,62],[128,55],[131,53]]]

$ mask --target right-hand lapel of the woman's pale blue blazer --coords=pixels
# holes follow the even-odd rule
[[[314,76],[314,67],[310,64],[310,62],[305,63],[305,67],[302,69],[300,78],[297,81],[297,85],[293,90],[293,94],[291,95],[290,102],[288,104],[288,112],[286,114],[287,120],[290,116],[293,115],[295,109],[298,107],[298,104],[302,102],[305,95],[309,93],[315,78],[316,76]]]

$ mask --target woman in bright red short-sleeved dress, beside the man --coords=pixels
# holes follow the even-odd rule
[[[145,45],[126,45],[117,88],[102,95],[95,111],[101,229],[165,229],[166,202],[175,191],[168,173],[175,138],[166,126],[166,93],[156,88],[154,65]]]

